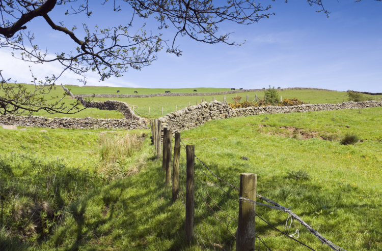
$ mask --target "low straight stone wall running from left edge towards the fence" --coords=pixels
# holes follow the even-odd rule
[[[117,118],[47,118],[39,116],[0,115],[0,125],[18,125],[21,127],[70,128],[70,129],[147,129],[146,124],[138,120]]]

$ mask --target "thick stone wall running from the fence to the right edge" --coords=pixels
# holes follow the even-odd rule
[[[199,125],[211,119],[224,119],[229,117],[253,116],[258,114],[331,111],[342,109],[362,109],[369,107],[381,107],[382,102],[343,102],[340,104],[306,104],[298,106],[265,106],[232,109],[219,101],[203,102],[199,105],[190,106],[158,118],[162,122],[162,128],[169,128],[173,133],[181,132]]]

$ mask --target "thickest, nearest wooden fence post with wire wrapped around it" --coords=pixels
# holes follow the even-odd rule
[[[239,196],[242,198],[256,201],[256,182],[256,174],[240,174]],[[255,209],[255,204],[240,200],[239,223],[236,232],[236,251],[255,250]]]

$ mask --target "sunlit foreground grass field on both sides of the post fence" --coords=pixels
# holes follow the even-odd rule
[[[56,221],[50,219],[49,223],[54,224],[47,234],[38,237],[36,233],[17,240],[20,226],[12,225],[11,230],[0,230],[0,243],[3,243],[0,247],[12,247],[10,250],[201,250],[203,241],[210,250],[223,250],[219,246],[235,250],[235,238],[228,230],[235,233],[237,223],[230,221],[225,213],[236,219],[238,203],[219,190],[212,180],[233,197],[238,198],[238,193],[219,180],[206,177],[202,171],[208,171],[198,161],[195,228],[201,238],[188,246],[183,194],[176,203],[171,202],[171,187],[165,186],[161,160],[155,160],[148,138],[142,150],[126,162],[124,176],[128,177],[113,180],[100,173],[103,136],[99,131],[62,129],[41,133],[37,129],[29,130],[0,129],[2,179],[9,176],[9,168],[5,167],[18,173],[15,178],[33,177],[37,170],[44,172],[42,176],[51,176],[48,164],[57,161],[67,168],[67,173],[74,170],[76,178],[68,184],[70,196],[63,194],[69,198],[62,212],[58,211],[63,215]],[[226,181],[238,186],[240,173],[256,173],[258,194],[291,207],[324,237],[348,251],[356,251],[382,250],[381,131],[382,108],[368,108],[212,120],[182,132],[181,137],[186,145],[195,145],[195,154]],[[148,130],[130,133],[143,132]],[[122,133],[118,132],[121,137]],[[360,142],[339,144],[339,139],[347,133],[357,134]],[[34,164],[22,156],[30,156]],[[184,150],[182,156],[184,192]],[[244,156],[248,160],[244,160]],[[44,165],[39,166],[39,161]],[[106,167],[115,167],[118,161],[121,163],[109,159]],[[16,172],[31,165],[40,169],[23,172],[24,176]],[[80,181],[81,177],[91,178]],[[74,193],[74,183],[81,184],[81,194]],[[8,214],[2,212],[3,226],[5,219],[15,217],[17,209],[15,194],[3,199],[8,189],[2,193],[2,205],[9,208]],[[205,191],[216,205],[211,199],[206,200]],[[70,200],[72,196],[74,199]],[[261,206],[256,208],[261,217],[284,231],[285,213]],[[42,213],[42,218],[49,217],[44,218]],[[307,250],[259,219],[256,219],[256,229],[271,250]],[[315,250],[331,250],[295,221],[289,234],[296,229],[299,229],[299,241]],[[12,236],[15,237],[10,242]],[[20,239],[24,244],[20,244]],[[266,248],[260,245],[260,250]]]

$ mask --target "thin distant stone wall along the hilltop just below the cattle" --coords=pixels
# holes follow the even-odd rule
[[[336,91],[336,90],[328,90],[328,89],[317,89],[317,88],[303,88],[303,87],[293,87],[293,88],[285,88],[278,89],[282,90],[326,90],[326,91]],[[176,96],[214,96],[214,95],[227,95],[227,94],[235,94],[241,92],[253,92],[253,91],[263,91],[263,89],[247,89],[247,90],[230,90],[230,91],[221,91],[221,92],[194,92],[194,93],[155,93],[155,94],[147,94],[147,95],[133,95],[133,94],[74,94],[72,98],[151,98],[151,97],[176,97]]]

